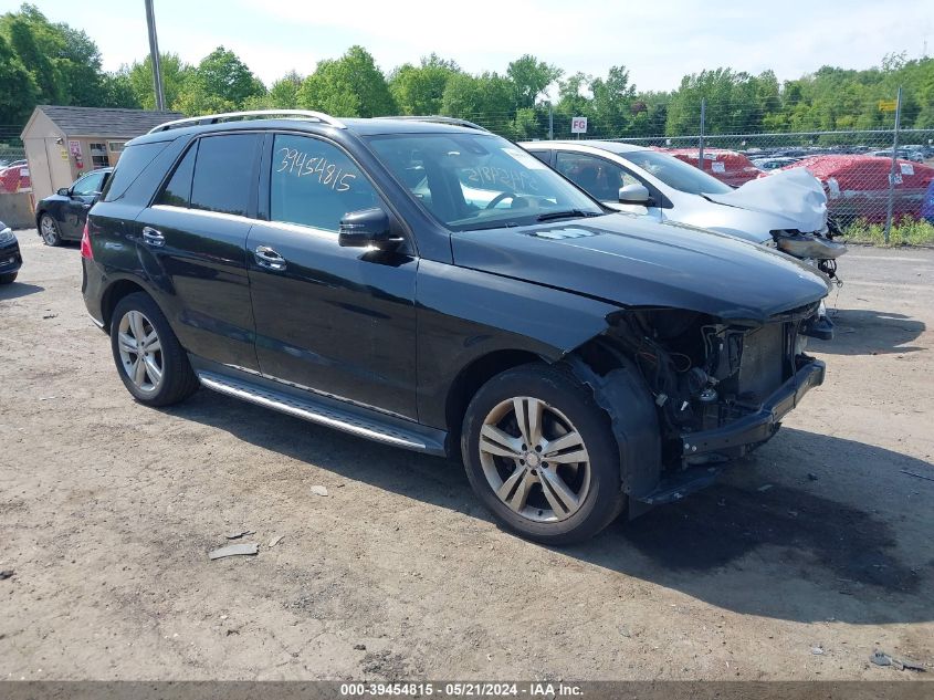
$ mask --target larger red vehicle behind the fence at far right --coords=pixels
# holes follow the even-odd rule
[[[789,168],[807,168],[821,181],[827,207],[841,223],[859,218],[872,223],[885,221],[891,158],[812,156],[783,169]],[[920,219],[925,192],[934,181],[934,168],[900,158],[895,161],[894,181],[894,219],[905,216]]]

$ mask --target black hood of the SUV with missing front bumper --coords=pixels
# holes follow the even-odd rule
[[[607,300],[764,322],[819,301],[829,282],[733,237],[613,213],[451,234],[454,264]],[[559,322],[559,320],[556,320]]]

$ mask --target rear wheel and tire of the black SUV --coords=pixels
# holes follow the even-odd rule
[[[141,404],[169,406],[198,389],[188,355],[147,294],[128,294],[117,303],[111,321],[111,348],[124,386]]]

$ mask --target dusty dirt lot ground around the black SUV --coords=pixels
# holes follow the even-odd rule
[[[934,671],[934,481],[902,471],[934,478],[934,251],[842,260],[827,384],[720,485],[549,550],[459,464],[208,390],[135,404],[77,248],[19,238],[0,678],[917,677],[875,647]],[[210,562],[234,530],[259,556]]]

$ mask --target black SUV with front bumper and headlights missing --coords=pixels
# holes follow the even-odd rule
[[[542,542],[710,483],[823,380],[799,330],[826,278],[608,212],[469,123],[165,124],[127,144],[82,257],[137,400],[203,385],[458,456]]]

